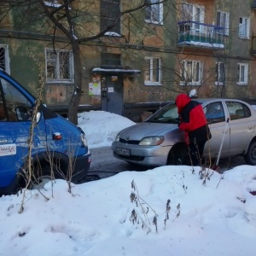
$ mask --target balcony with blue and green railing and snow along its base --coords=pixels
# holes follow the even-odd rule
[[[225,28],[186,20],[177,23],[178,46],[224,49]]]

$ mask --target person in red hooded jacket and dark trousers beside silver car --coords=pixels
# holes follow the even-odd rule
[[[181,121],[178,127],[185,132],[191,164],[201,166],[205,144],[212,137],[203,108],[199,102],[192,101],[186,94],[177,96],[176,105]]]

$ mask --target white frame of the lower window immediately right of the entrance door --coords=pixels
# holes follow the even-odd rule
[[[149,70],[144,70],[144,85],[162,85],[161,84],[161,59],[160,58],[154,58],[154,57],[145,57],[145,61],[149,60]],[[154,60],[158,60],[158,67],[154,67]],[[145,63],[146,64],[146,63]],[[158,70],[158,81],[154,81],[154,70]],[[146,78],[146,74],[148,74],[148,79]]]

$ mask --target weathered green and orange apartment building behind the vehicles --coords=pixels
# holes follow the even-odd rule
[[[65,1],[44,3],[56,20],[65,19]],[[81,38],[79,109],[139,121],[144,111],[192,89],[200,97],[256,97],[255,1],[148,0],[152,5],[137,8],[142,3],[83,0],[69,6]],[[1,10],[0,67],[34,93],[43,73],[44,102],[67,111],[77,70],[70,41],[44,19],[42,5]]]

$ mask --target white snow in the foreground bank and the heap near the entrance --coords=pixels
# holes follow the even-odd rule
[[[90,148],[110,146],[133,124],[103,111],[79,115]],[[42,194],[26,191],[22,213],[21,195],[2,196],[0,255],[256,255],[256,167],[200,171],[131,170],[73,185],[72,193],[57,180]]]

